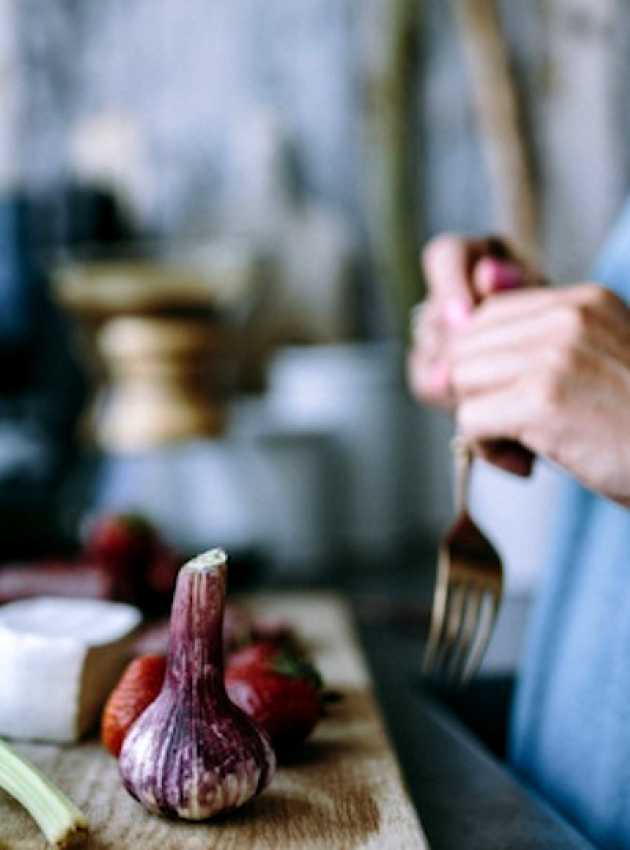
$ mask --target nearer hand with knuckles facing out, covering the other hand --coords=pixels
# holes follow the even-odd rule
[[[484,302],[453,344],[458,430],[518,440],[630,505],[630,310],[597,284]]]

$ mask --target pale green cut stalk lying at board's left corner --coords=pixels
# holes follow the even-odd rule
[[[53,847],[65,850],[85,839],[87,821],[74,803],[2,740],[0,788],[24,806]]]

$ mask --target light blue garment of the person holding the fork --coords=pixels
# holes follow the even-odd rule
[[[630,203],[592,279],[630,300]],[[511,759],[594,843],[630,850],[630,510],[564,476],[557,518]]]

